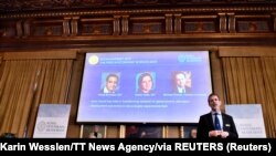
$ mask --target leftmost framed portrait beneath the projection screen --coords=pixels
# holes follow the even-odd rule
[[[106,138],[106,125],[82,125],[81,138]]]

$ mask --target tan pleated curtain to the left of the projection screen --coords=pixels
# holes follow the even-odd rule
[[[32,135],[40,103],[66,103],[73,60],[7,60],[0,80],[0,134]]]

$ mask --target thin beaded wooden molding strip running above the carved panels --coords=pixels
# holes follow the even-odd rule
[[[113,9],[113,10],[87,10],[87,11],[41,11],[28,13],[2,13],[0,19],[17,18],[47,18],[47,17],[72,17],[72,15],[113,15],[113,14],[140,14],[140,13],[212,13],[212,12],[275,12],[276,6],[267,7],[204,7],[204,8],[171,8],[171,9]]]

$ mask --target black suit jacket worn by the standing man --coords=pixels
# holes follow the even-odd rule
[[[237,138],[238,134],[236,132],[236,126],[233,121],[233,117],[222,113],[222,121],[223,121],[223,131],[229,132],[229,137]],[[214,131],[214,124],[212,118],[212,113],[204,114],[200,116],[199,126],[198,126],[198,138],[208,138],[209,132]]]

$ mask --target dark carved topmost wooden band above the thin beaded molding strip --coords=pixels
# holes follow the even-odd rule
[[[0,12],[276,4],[275,0],[0,0]]]

